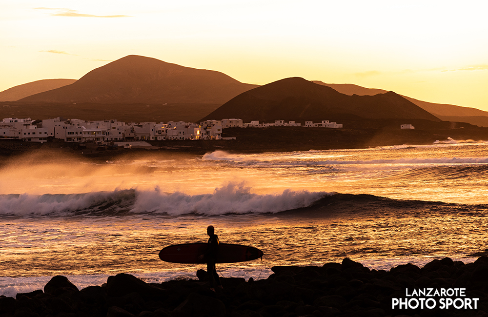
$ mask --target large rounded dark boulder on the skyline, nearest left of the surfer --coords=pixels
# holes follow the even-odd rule
[[[154,285],[147,284],[129,274],[117,274],[107,279],[107,294],[109,296],[124,296],[130,293],[139,293],[141,296],[161,297],[166,295],[166,291]]]

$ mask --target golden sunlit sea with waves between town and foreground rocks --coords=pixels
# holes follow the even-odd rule
[[[371,269],[474,261],[488,232],[488,142],[203,156],[158,152],[93,162],[38,153],[0,169],[0,295],[56,275],[80,289],[129,273],[196,278],[204,265],[159,251],[206,242],[260,248],[219,264],[223,277],[266,278],[275,265],[351,258]]]

